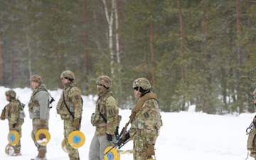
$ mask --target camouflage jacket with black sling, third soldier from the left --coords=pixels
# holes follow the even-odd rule
[[[64,95],[64,96],[63,96]],[[65,102],[63,100],[65,98]],[[65,106],[65,104],[67,106]],[[76,87],[74,82],[70,82],[69,85],[65,86],[63,92],[60,95],[60,100],[56,107],[57,113],[60,114],[61,119],[70,119],[72,117],[68,109],[74,115],[75,119],[82,118],[82,98],[81,91]]]

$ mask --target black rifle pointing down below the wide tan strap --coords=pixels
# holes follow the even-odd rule
[[[117,141],[113,142],[114,146],[112,146],[112,148],[110,150],[108,150],[105,154],[107,155],[112,149],[117,148],[117,149],[121,149],[122,146],[124,146],[124,144],[127,144],[127,142],[129,142],[129,131],[126,131],[124,134],[124,139],[122,139],[122,134],[124,132],[124,127],[122,128],[122,131],[120,132],[120,134],[117,136]]]

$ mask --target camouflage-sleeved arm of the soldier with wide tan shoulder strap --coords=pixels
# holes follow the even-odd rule
[[[144,125],[144,133],[146,144],[155,144],[157,138],[157,131],[154,127],[156,114],[154,111],[154,102],[151,100],[146,100],[141,108],[141,119]]]

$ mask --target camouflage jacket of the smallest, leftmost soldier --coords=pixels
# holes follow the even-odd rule
[[[17,124],[19,119],[19,111],[23,110],[21,103],[18,100],[13,99],[6,105],[5,116],[9,120],[9,125]]]

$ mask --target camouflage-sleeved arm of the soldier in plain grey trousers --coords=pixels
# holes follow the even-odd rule
[[[113,135],[117,129],[119,107],[117,100],[110,96],[106,100],[106,112],[107,112],[107,134]]]

